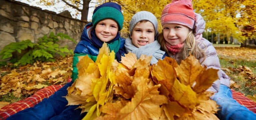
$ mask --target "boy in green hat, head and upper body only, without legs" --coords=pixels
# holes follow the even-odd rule
[[[103,42],[108,44],[109,49],[116,53],[117,61],[121,61],[121,55],[124,56],[125,39],[120,37],[119,31],[123,27],[124,18],[121,12],[121,6],[108,2],[104,3],[93,11],[92,23],[85,26],[81,35],[81,41],[77,44],[73,58],[72,81],[78,77],[76,64],[78,56],[88,55],[93,61],[96,61],[99,54],[99,48]]]

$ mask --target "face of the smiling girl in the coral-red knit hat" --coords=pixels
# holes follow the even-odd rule
[[[189,28],[180,24],[164,24],[164,39],[172,46],[183,43],[188,36]]]

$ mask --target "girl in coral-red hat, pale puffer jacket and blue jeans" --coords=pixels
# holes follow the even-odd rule
[[[201,65],[219,69],[219,79],[208,90],[218,92],[211,96],[211,99],[221,106],[221,110],[218,111],[220,119],[249,120],[256,118],[252,111],[241,106],[232,98],[229,88],[230,78],[220,69],[215,48],[208,40],[202,38],[204,21],[197,20],[196,26],[194,26],[195,14],[191,0],[173,0],[172,3],[166,5],[162,11],[161,24],[163,26],[163,33],[159,36],[161,48],[179,64],[191,53],[200,61]]]

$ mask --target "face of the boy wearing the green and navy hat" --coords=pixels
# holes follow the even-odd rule
[[[118,25],[112,19],[105,19],[97,23],[95,27],[96,36],[102,42],[109,42],[113,40],[118,32]]]

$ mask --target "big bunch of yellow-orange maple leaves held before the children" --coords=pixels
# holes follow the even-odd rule
[[[218,79],[193,56],[180,65],[166,57],[150,65],[150,56],[132,53],[118,63],[106,44],[96,62],[79,58],[78,79],[68,88],[68,105],[88,112],[83,119],[218,119],[218,105],[206,90]]]

